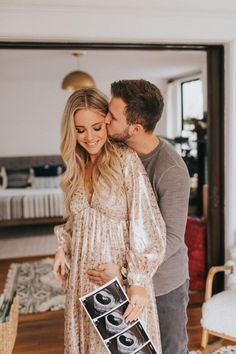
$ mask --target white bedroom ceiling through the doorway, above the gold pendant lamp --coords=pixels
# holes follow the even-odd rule
[[[74,52],[74,51],[73,51]],[[50,80],[72,70],[97,78],[172,79],[199,73],[204,51],[86,50],[79,58],[66,50],[0,50],[1,80]]]

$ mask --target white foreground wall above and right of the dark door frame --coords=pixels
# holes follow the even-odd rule
[[[0,39],[222,43],[226,51],[226,250],[236,243],[236,2],[230,0],[3,2]],[[46,4],[46,5],[45,5]],[[43,8],[44,6],[44,8]]]

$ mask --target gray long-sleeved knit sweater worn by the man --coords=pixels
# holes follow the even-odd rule
[[[166,223],[166,256],[153,278],[155,293],[159,296],[176,289],[189,278],[184,233],[190,178],[181,156],[162,139],[151,153],[140,156],[140,159],[148,173]]]

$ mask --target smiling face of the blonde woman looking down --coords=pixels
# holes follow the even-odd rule
[[[91,160],[95,161],[107,140],[105,117],[98,112],[82,109],[75,113],[74,122],[78,144],[88,152]]]

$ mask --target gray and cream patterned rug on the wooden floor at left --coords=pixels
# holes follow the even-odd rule
[[[65,295],[54,278],[52,258],[11,264],[4,293],[7,296],[14,290],[20,298],[21,314],[64,308]]]

